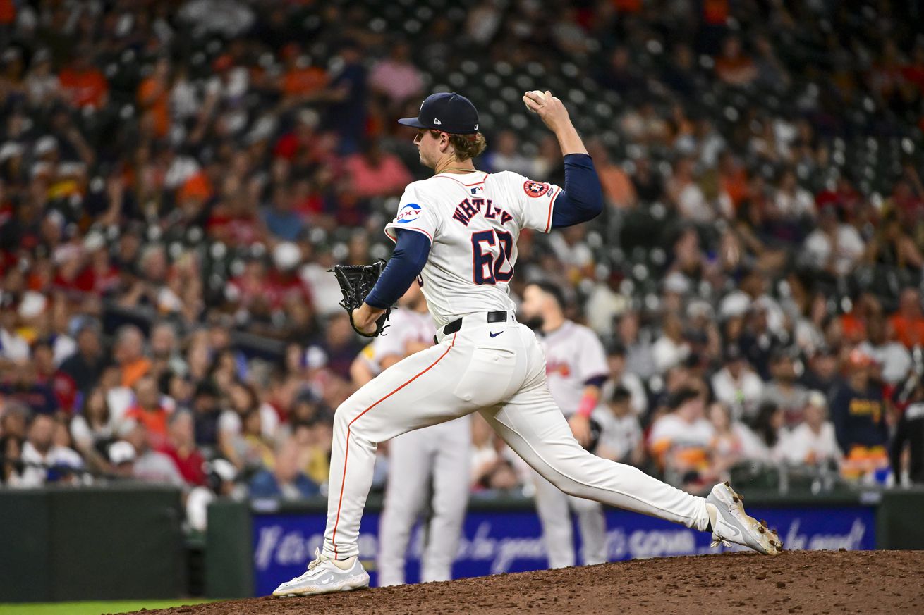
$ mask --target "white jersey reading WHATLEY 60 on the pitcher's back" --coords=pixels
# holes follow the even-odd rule
[[[509,283],[517,264],[517,237],[524,228],[548,233],[560,187],[509,171],[441,173],[407,186],[395,230],[430,237],[430,258],[421,288],[437,327],[466,314],[514,310]]]

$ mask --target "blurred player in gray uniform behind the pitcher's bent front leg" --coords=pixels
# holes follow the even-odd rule
[[[433,345],[433,320],[418,284],[398,303],[386,335],[363,350],[350,369],[364,385],[384,369]],[[453,561],[468,505],[471,422],[468,416],[408,431],[388,441],[388,483],[379,523],[379,585],[405,582],[411,530],[428,499],[431,515],[420,566],[420,581],[452,579]]]

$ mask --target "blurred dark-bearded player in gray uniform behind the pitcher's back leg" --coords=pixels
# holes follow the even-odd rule
[[[523,291],[520,311],[525,324],[540,333],[549,392],[577,440],[587,447],[590,417],[601,412],[601,386],[608,372],[606,356],[597,335],[565,319],[564,308],[564,295],[551,283],[529,283]],[[606,424],[601,418],[595,417],[598,424]],[[576,563],[570,511],[577,514],[583,563],[607,561],[606,519],[601,504],[565,495],[537,472],[533,473],[533,482],[549,566],[565,568]]]

